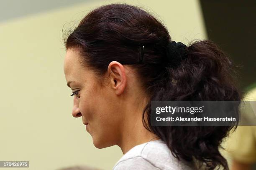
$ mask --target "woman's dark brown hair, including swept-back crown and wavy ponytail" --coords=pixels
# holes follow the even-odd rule
[[[111,61],[132,64],[150,101],[240,100],[233,66],[220,47],[210,40],[194,40],[187,47],[187,57],[174,67],[164,62],[170,41],[164,24],[150,13],[133,5],[109,4],[88,13],[65,46],[77,48],[84,64],[98,75],[107,71]],[[139,45],[145,47],[142,64],[138,63]],[[143,125],[164,140],[177,159],[196,160],[209,170],[220,166],[228,170],[218,148],[233,126],[152,126],[150,101]]]

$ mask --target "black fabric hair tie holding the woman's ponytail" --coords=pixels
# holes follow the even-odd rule
[[[187,45],[182,42],[171,41],[167,45],[167,63],[172,67],[180,65],[182,60],[187,57]]]

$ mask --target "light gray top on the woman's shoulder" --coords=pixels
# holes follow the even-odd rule
[[[193,163],[179,161],[162,140],[137,145],[115,164],[113,170],[193,170]]]

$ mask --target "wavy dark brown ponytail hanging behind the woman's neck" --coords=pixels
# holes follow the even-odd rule
[[[152,93],[152,101],[240,100],[232,79],[233,65],[214,42],[195,40],[187,49],[187,57],[178,67],[165,68],[168,74]],[[148,103],[144,110],[148,112],[148,122],[150,108]],[[175,158],[196,160],[209,170],[220,165],[228,170],[227,161],[218,149],[232,126],[152,126],[145,119],[143,124],[164,140]]]

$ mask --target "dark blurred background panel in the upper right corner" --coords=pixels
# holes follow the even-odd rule
[[[242,65],[239,84],[256,82],[256,0],[200,0],[209,40]]]

